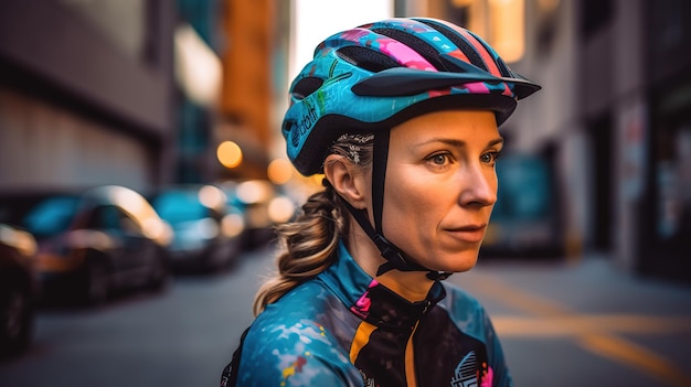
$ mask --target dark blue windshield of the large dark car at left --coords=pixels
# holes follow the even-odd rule
[[[70,228],[76,214],[77,197],[56,196],[46,198],[26,213],[23,225],[36,237],[50,237]]]

